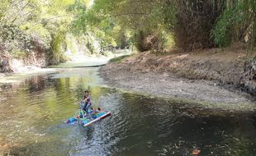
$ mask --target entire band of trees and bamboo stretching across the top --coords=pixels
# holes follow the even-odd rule
[[[255,0],[1,0],[0,50],[15,57],[45,53],[64,62],[67,34],[89,53],[134,48],[163,52],[256,43]],[[81,41],[83,40],[83,41]]]

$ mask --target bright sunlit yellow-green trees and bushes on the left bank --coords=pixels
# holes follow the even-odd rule
[[[1,0],[1,51],[12,57],[45,53],[48,64],[64,62],[76,0]]]

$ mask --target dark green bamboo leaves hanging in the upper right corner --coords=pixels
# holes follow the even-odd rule
[[[244,0],[234,2],[227,6],[225,11],[220,15],[213,30],[211,37],[219,47],[230,46],[232,41],[242,41],[245,36],[251,34],[254,25],[256,2],[254,0]]]

